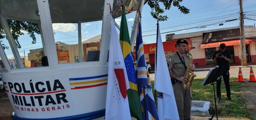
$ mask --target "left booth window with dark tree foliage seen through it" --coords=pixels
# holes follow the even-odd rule
[[[4,30],[10,30],[6,34],[8,40],[2,45],[10,47],[5,49],[8,61],[16,65],[16,68],[48,66],[48,60],[44,57],[45,47],[41,32],[40,17],[36,0],[1,0],[1,12],[3,26],[9,26]],[[18,58],[20,57],[20,58]],[[14,60],[18,59],[18,60]],[[17,62],[20,64],[17,65]],[[15,68],[12,65],[12,68]]]

